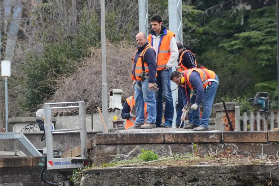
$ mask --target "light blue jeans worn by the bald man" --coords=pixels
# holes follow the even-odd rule
[[[136,81],[135,85],[135,106],[136,106],[136,121],[135,124],[144,123],[144,103],[147,104],[147,122],[155,123],[156,122],[156,100],[154,91],[149,91],[148,89],[148,79],[144,82]]]

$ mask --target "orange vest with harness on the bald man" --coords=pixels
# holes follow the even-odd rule
[[[149,69],[148,69],[148,65],[147,63],[144,62],[144,70],[145,70],[145,74],[143,74],[143,68],[142,68],[142,60],[144,60],[144,54],[145,54],[145,51],[147,51],[148,48],[152,48],[154,50],[154,48],[148,44],[144,50],[140,53],[139,55],[139,58],[138,58],[138,61],[136,63],[136,66],[135,66],[135,76],[133,75],[133,69],[132,69],[132,79],[137,79],[138,81],[141,81],[141,78],[143,78],[145,75],[148,74],[149,72]],[[135,55],[137,53],[138,49],[135,51],[135,54],[134,54],[134,57],[133,57],[133,64],[134,64],[134,59],[135,59]],[[155,50],[154,50],[155,51]],[[157,77],[157,74],[156,74],[156,77]]]

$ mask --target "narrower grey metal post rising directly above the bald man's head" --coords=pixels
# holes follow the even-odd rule
[[[139,32],[148,35],[148,0],[139,0]]]

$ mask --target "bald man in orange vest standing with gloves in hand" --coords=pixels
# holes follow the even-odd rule
[[[128,129],[156,128],[156,52],[147,42],[145,33],[136,35],[138,48],[133,57],[132,79],[135,85],[136,120]],[[147,123],[144,125],[144,103],[147,104]]]

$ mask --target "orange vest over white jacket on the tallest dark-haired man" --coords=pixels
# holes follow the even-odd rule
[[[166,64],[170,59],[170,39],[172,36],[175,37],[175,34],[167,30],[167,34],[160,37],[160,42],[157,52],[157,70],[162,70],[165,68]],[[151,34],[148,35],[148,42],[153,46],[153,38]]]

